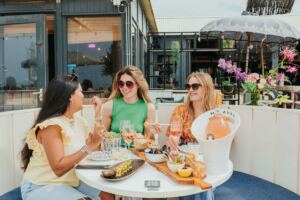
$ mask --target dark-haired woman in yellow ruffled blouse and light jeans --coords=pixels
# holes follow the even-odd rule
[[[100,196],[114,199],[108,193],[99,195],[100,191],[80,182],[75,174],[74,167],[89,152],[97,150],[102,141],[98,122],[90,133],[86,121],[76,114],[82,109],[84,98],[77,79],[74,74],[54,79],[46,89],[41,110],[21,152],[24,200]]]

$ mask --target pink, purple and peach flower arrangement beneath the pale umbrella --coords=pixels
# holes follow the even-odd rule
[[[281,57],[279,65],[272,67],[265,76],[258,73],[247,74],[242,72],[242,69],[232,64],[231,60],[225,60],[224,58],[219,59],[218,67],[228,74],[235,75],[236,80],[242,82],[244,92],[252,94],[252,104],[257,105],[261,91],[274,90],[275,86],[282,86],[284,82],[291,83],[285,73],[296,74],[298,71],[299,66],[292,63],[297,55],[294,49],[284,48],[279,55]],[[284,99],[286,99],[286,96],[284,96]]]

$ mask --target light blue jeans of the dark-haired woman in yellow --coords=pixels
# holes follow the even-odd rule
[[[36,185],[24,180],[21,193],[23,200],[77,200],[83,197],[98,200],[100,191],[83,182],[78,187],[72,187],[61,183]]]

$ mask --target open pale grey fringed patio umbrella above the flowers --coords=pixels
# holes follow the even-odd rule
[[[248,71],[249,47],[251,42],[265,43],[295,43],[300,33],[291,25],[279,19],[265,16],[239,16],[226,17],[206,24],[201,30],[201,35],[207,37],[224,37],[239,41],[248,41],[246,52],[245,71]],[[261,58],[261,61],[263,58]],[[264,66],[262,63],[264,73]]]

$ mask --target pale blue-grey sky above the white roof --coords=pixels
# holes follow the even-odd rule
[[[151,0],[154,15],[161,17],[239,16],[247,0]],[[295,0],[291,14],[300,15],[300,0]]]

